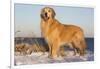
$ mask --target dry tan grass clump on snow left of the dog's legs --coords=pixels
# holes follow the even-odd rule
[[[28,44],[17,44],[15,46],[15,53],[19,52],[19,54],[27,55],[32,52],[46,52],[46,48],[40,45],[28,45]]]

